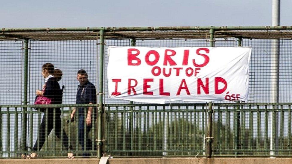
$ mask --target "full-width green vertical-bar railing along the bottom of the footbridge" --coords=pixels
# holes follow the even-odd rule
[[[212,156],[291,156],[291,103],[215,103],[212,119]],[[91,132],[91,150],[82,151],[78,142],[77,121],[69,122],[73,108],[96,105],[48,105],[60,108],[60,131],[68,136],[65,148],[62,133],[46,135],[41,157],[66,157],[73,152],[97,156],[97,127],[104,127],[102,138],[104,154],[112,156],[206,156],[208,104],[105,104],[103,124],[94,119]],[[20,157],[29,154],[39,137],[39,126],[44,114],[35,110],[42,105],[1,105],[0,157]],[[24,112],[24,109],[27,110]],[[275,114],[279,114],[279,146],[275,140]],[[21,124],[23,114],[28,116],[27,127]],[[96,114],[96,113],[94,113]],[[56,116],[56,112],[54,112]],[[55,117],[54,117],[55,118]],[[78,120],[78,115],[76,119]],[[273,122],[271,122],[273,120]],[[46,130],[50,119],[46,119]],[[52,120],[51,120],[52,121]],[[55,120],[53,119],[53,122]],[[27,130],[26,145],[21,144],[22,131]],[[4,133],[5,132],[5,133]],[[271,136],[274,134],[274,136]],[[84,139],[86,140],[86,138]],[[38,144],[38,143],[37,143]],[[69,149],[69,150],[67,150]]]

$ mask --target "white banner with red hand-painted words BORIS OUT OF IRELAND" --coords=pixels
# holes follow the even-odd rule
[[[109,47],[108,55],[110,98],[248,100],[250,47]]]

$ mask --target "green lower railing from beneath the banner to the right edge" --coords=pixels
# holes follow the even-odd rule
[[[213,104],[212,156],[291,156],[292,104]],[[132,108],[133,107],[133,108]],[[121,104],[105,110],[105,151],[116,156],[206,156],[208,104]],[[270,149],[279,113],[279,147]],[[285,122],[285,123],[284,123]],[[274,142],[275,144],[275,142]]]

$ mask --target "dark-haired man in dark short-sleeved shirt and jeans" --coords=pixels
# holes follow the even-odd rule
[[[95,86],[88,81],[88,75],[85,70],[81,69],[77,72],[76,79],[80,83],[77,88],[76,94],[76,104],[96,104],[96,89]],[[81,150],[91,150],[91,140],[88,137],[88,133],[92,128],[92,115],[93,110],[96,108],[88,107],[87,108],[78,107],[78,140],[81,145]],[[86,112],[86,116],[85,113]],[[74,119],[76,109],[72,111],[71,120]],[[94,114],[96,116],[96,112]],[[93,116],[94,118],[96,118]],[[85,118],[86,117],[86,118]],[[86,122],[86,129],[84,129],[84,123]],[[84,143],[84,132],[86,133],[86,143]],[[83,156],[89,156],[89,153],[83,153]]]

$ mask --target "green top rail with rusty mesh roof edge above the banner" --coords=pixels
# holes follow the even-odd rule
[[[0,28],[0,40],[96,40],[100,30],[105,39],[291,39],[292,26],[173,26],[173,27],[66,27]]]

